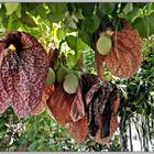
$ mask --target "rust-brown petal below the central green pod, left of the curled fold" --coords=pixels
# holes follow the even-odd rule
[[[62,85],[55,82],[55,90],[47,100],[47,107],[59,124],[66,124],[72,121],[70,109],[74,99],[75,95],[68,95]]]

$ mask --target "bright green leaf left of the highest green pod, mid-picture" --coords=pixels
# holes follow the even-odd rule
[[[74,36],[74,35],[69,35],[66,37],[66,42],[68,44],[68,46],[76,51],[81,51],[85,50],[87,47],[87,45],[81,41],[81,38]]]

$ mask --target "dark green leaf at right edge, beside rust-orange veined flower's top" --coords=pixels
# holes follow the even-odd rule
[[[148,37],[151,34],[154,34],[154,14],[151,14],[145,18],[139,18],[134,21],[133,28],[136,29],[141,37]]]

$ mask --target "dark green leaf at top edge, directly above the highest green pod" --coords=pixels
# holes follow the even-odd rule
[[[102,13],[105,13],[105,14],[110,14],[110,13],[112,13],[112,11],[114,10],[114,8],[116,8],[116,3],[113,3],[113,2],[108,2],[108,3],[101,2],[101,3],[99,3],[99,6],[98,6],[98,9],[99,9]]]

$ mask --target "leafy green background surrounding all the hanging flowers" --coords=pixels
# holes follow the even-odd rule
[[[54,43],[67,68],[88,73],[94,69],[94,35],[101,26],[121,29],[119,18],[132,23],[142,37],[143,62],[130,79],[113,78],[121,91],[118,111],[120,128],[110,143],[88,138],[77,144],[50,111],[19,120],[12,108],[0,114],[0,151],[133,151],[131,132],[135,127],[141,148],[154,151],[154,4],[153,3],[0,3],[0,36],[25,31],[46,48]],[[81,64],[81,65],[80,65]],[[80,67],[81,66],[81,67]],[[129,133],[128,133],[129,132]],[[130,145],[130,146],[129,146]]]

